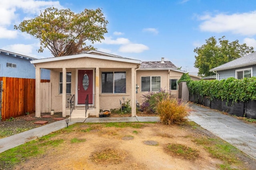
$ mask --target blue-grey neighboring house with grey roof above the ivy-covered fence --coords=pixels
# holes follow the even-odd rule
[[[212,68],[210,71],[216,73],[217,80],[229,77],[242,79],[256,76],[256,52]]]

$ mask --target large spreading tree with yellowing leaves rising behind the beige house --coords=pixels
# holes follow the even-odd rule
[[[85,9],[81,13],[74,13],[70,9],[50,7],[33,19],[24,20],[14,29],[20,29],[40,40],[38,52],[48,48],[54,57],[75,55],[95,49],[86,45],[104,39],[107,33],[102,11]]]

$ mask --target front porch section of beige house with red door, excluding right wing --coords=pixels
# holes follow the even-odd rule
[[[51,70],[52,109],[62,111],[66,117],[71,109],[66,107],[71,98],[76,106],[71,117],[85,114],[99,117],[100,109],[120,107],[119,100],[130,99],[132,116],[136,113],[136,70],[141,61],[98,51],[64,57],[31,61],[36,67],[36,117],[40,117],[41,68]],[[93,107],[85,111],[85,99]],[[67,101],[68,100],[68,101]]]

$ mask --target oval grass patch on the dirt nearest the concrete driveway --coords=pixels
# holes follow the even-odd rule
[[[170,144],[167,149],[175,156],[194,160],[199,157],[199,151],[182,144]]]

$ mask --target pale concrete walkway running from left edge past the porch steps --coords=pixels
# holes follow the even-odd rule
[[[72,125],[77,122],[85,123],[100,123],[100,122],[150,122],[160,121],[159,117],[96,117],[87,119],[71,119],[68,125]],[[67,127],[66,121],[60,120],[48,125],[37,127],[29,131],[25,131],[16,135],[12,135],[6,138],[0,139],[0,153],[22,145],[26,142],[32,141],[38,137],[48,135],[54,131],[58,131],[64,127]]]

